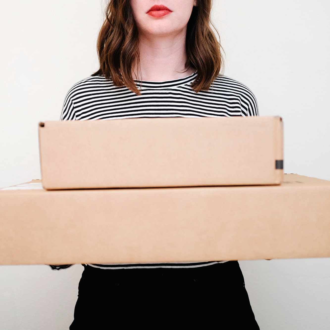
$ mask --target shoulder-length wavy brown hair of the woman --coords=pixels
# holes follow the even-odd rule
[[[211,7],[212,0],[198,0],[187,25],[185,67],[197,71],[191,84],[196,93],[209,90],[223,67],[222,48],[211,28]],[[103,75],[115,86],[126,86],[141,95],[132,76],[133,64],[139,63],[139,33],[129,0],[109,1],[97,51],[100,69],[93,76]]]

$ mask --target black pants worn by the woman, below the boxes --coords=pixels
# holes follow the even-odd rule
[[[237,261],[198,268],[85,266],[70,330],[259,329]]]

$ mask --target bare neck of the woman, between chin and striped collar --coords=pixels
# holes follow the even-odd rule
[[[195,69],[185,67],[187,61],[185,38],[186,31],[175,36],[140,35],[139,69],[141,71],[135,66],[133,69],[135,77],[143,81],[161,82],[193,74]]]

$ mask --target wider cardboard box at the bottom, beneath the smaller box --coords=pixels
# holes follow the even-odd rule
[[[0,263],[330,257],[329,202],[329,181],[299,175],[280,186],[0,190]]]

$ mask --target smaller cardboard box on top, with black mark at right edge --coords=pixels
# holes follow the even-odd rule
[[[280,184],[280,117],[50,121],[46,189]]]

